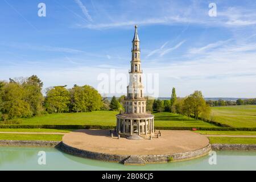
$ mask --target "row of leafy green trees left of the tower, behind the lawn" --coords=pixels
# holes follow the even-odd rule
[[[102,109],[102,97],[92,86],[53,86],[42,94],[43,82],[33,75],[0,82],[0,120],[45,113],[85,112]]]

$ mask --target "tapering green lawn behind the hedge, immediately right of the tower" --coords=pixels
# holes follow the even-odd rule
[[[210,123],[174,113],[154,113],[155,127],[218,127]]]

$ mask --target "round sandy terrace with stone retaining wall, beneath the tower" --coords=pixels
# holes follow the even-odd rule
[[[211,147],[204,135],[184,130],[162,130],[151,139],[111,137],[109,130],[76,130],[57,147],[68,154],[124,164],[163,163],[206,155]],[[158,136],[158,137],[157,137]]]

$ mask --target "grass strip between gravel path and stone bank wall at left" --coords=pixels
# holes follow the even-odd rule
[[[0,140],[47,140],[61,141],[63,135],[51,134],[0,134]]]

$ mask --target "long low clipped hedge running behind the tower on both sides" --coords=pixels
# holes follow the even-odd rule
[[[102,125],[0,125],[0,129],[101,129],[110,130],[115,126]],[[256,131],[256,128],[248,127],[158,127],[156,130],[213,130],[213,131]]]

